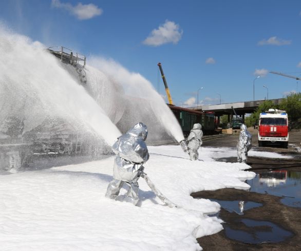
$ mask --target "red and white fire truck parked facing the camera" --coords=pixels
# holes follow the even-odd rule
[[[259,115],[258,146],[265,143],[280,143],[287,148],[289,141],[288,114],[286,111],[269,109]]]

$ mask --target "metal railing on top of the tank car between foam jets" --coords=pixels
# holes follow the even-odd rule
[[[57,48],[57,50],[55,50]],[[77,65],[80,62],[83,63],[83,67],[86,66],[86,56],[83,54],[80,54],[78,52],[73,53],[72,50],[63,47],[63,46],[54,46],[49,47],[48,50],[55,56],[61,58],[61,61],[69,61],[71,65]]]

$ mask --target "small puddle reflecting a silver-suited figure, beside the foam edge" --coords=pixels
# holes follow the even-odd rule
[[[216,200],[216,199],[210,199],[210,200],[220,204],[220,206],[224,208],[224,210],[227,210],[230,213],[235,212],[238,215],[243,215],[243,211],[245,210],[262,206],[261,203],[256,203],[253,201],[241,201],[241,200],[229,201],[229,200]]]

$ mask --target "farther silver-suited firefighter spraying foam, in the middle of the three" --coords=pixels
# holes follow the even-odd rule
[[[188,152],[191,160],[197,160],[199,157],[198,149],[202,145],[202,126],[197,123],[193,125],[193,129],[190,131],[190,134],[187,138]]]

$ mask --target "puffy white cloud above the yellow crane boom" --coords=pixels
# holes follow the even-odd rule
[[[150,35],[143,41],[143,44],[149,46],[160,46],[167,43],[177,44],[181,39],[182,34],[183,30],[180,30],[179,25],[166,20],[163,25],[150,33]]]

